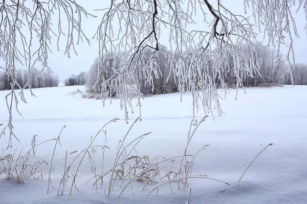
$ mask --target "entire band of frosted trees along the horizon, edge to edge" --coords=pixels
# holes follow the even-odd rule
[[[144,53],[147,58],[140,59],[138,66],[146,66],[151,58],[150,50],[146,50]],[[240,81],[241,87],[257,87],[264,86],[266,84],[286,84],[290,85],[291,75],[289,73],[289,67],[286,60],[282,56],[277,59],[274,58],[273,50],[270,50],[265,46],[258,46],[256,49],[257,60],[259,69],[257,72],[250,75],[240,76],[242,81]],[[233,57],[231,50],[229,50],[228,61],[225,62],[225,70],[223,73],[218,73],[222,75],[220,80],[223,80],[223,84],[227,84],[228,88],[234,88],[237,86],[237,73],[234,72],[232,68]],[[123,54],[122,54],[123,55]],[[155,73],[149,74],[152,79],[151,83],[148,83],[148,73],[146,69],[136,69],[135,77],[139,82],[139,89],[143,95],[149,94],[164,94],[179,91],[176,73],[171,73],[171,66],[176,62],[176,59],[170,60],[171,51],[165,46],[160,48],[160,52],[156,52],[153,56],[153,61],[156,63],[157,71]],[[101,61],[99,65],[98,58],[94,61],[88,72],[81,72],[78,75],[72,74],[67,79],[64,80],[64,86],[75,86],[75,85],[86,85],[87,91],[89,93],[98,94],[101,93],[103,83],[109,83],[105,86],[107,96],[116,96],[116,87],[112,87],[112,78],[119,75],[120,62],[123,56],[115,55],[113,53],[108,53]],[[189,57],[189,55],[187,55]],[[211,71],[212,79],[214,80],[214,73],[212,71],[212,66],[214,61],[208,59],[208,67],[206,70]],[[185,64],[184,68],[188,70],[189,64]],[[202,68],[200,71],[203,71]],[[30,74],[30,78],[29,78]],[[27,83],[30,84],[31,88],[41,88],[41,87],[55,87],[59,84],[58,75],[55,74],[51,69],[45,69],[40,76],[40,71],[36,68],[32,68],[29,72],[28,70],[18,69],[15,72],[16,85],[15,88],[23,88]],[[216,74],[216,73],[215,73]],[[29,81],[29,79],[31,79]],[[295,85],[307,85],[307,64],[296,64],[296,70],[293,70],[293,79]],[[195,83],[199,83],[199,78],[195,77]],[[209,83],[216,83],[219,85],[221,82],[214,80]],[[94,87],[95,85],[95,87]],[[0,71],[0,90],[9,90],[12,86],[12,80],[9,79],[8,74]]]

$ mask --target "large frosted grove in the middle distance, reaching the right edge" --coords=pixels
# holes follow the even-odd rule
[[[180,79],[178,73],[173,72],[173,69],[171,69],[176,64],[179,56],[173,55],[165,46],[160,47],[158,52],[155,51],[152,54],[153,52],[151,49],[143,51],[142,57],[139,59],[133,72],[135,81],[130,86],[133,86],[132,88],[138,88],[143,95],[179,91],[179,83],[182,79]],[[207,60],[205,64],[208,67],[199,67],[200,70],[190,70],[189,67],[195,66],[189,64],[188,58],[192,54],[186,53],[186,60],[184,60],[185,63],[183,63],[182,69],[187,72],[188,77],[193,78],[195,84],[200,84],[199,88],[204,83],[202,75],[205,75],[204,72],[206,71],[211,76],[211,82],[209,83],[215,83],[220,88],[225,88],[219,86],[220,84],[226,84],[227,88],[257,87],[265,84],[292,84],[289,65],[286,59],[281,55],[276,56],[273,49],[261,43],[258,43],[253,51],[245,47],[245,52],[241,54],[242,58],[236,56],[235,60],[231,48],[225,53],[228,56],[226,57],[227,60],[222,62],[224,69],[218,73],[215,73],[213,69],[216,66],[214,65],[216,63],[214,58],[218,56],[208,56],[207,59],[204,59]],[[245,66],[250,66],[249,61],[246,59],[252,58],[252,56],[257,56],[253,58],[254,63],[258,65],[257,71],[254,73],[243,72],[242,70],[244,70]],[[100,61],[97,58],[89,72],[84,74],[87,91],[95,94],[103,92],[107,97],[115,97],[117,92],[120,91],[120,87],[113,83],[113,79],[118,78],[121,74],[119,70],[121,70],[120,66],[123,58],[123,53],[107,53]],[[235,63],[242,66],[242,69],[238,71],[234,69]],[[150,69],[146,68],[148,66],[150,66]],[[198,73],[193,74],[193,72]],[[296,85],[307,85],[307,65],[297,64],[296,70],[293,70],[293,77]]]

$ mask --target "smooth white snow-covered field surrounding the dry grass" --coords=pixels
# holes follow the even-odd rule
[[[82,151],[91,143],[101,127],[113,118],[120,121],[108,124],[107,146],[105,150],[105,169],[114,162],[119,140],[127,132],[131,122],[139,113],[134,107],[134,114],[129,114],[130,123],[124,121],[119,101],[108,101],[105,107],[101,100],[76,97],[68,94],[84,87],[57,87],[34,89],[37,97],[30,96],[26,90],[27,104],[19,103],[19,111],[13,113],[14,133],[20,144],[13,139],[13,148],[4,155],[31,148],[33,135],[37,134],[36,143],[56,138],[64,125],[60,142],[57,146],[53,167],[64,168],[65,151]],[[5,180],[0,175],[0,203],[186,203],[191,188],[190,203],[307,203],[307,87],[287,86],[274,88],[250,88],[247,94],[239,90],[235,101],[235,90],[228,90],[227,99],[221,101],[222,117],[212,117],[202,123],[196,131],[188,148],[188,154],[202,150],[193,161],[193,174],[206,174],[210,180],[188,180],[186,190],[177,190],[177,184],[160,188],[147,194],[161,184],[146,186],[137,181],[132,183],[133,193],[129,187],[118,198],[122,188],[114,187],[111,196],[105,196],[107,183],[100,185],[98,192],[92,187],[93,181],[84,185],[94,174],[91,172],[89,159],[82,162],[76,186],[79,192],[70,189],[72,176],[68,178],[63,195],[57,196],[61,175],[51,173],[49,194],[48,175],[43,180],[30,180],[30,183],[18,184],[16,180]],[[8,91],[0,92],[0,124],[6,124],[8,111],[4,96]],[[221,93],[222,94],[222,93]],[[136,103],[135,103],[136,105]],[[197,117],[202,116],[202,111]],[[142,100],[142,122],[137,122],[127,137],[127,141],[148,132],[136,147],[139,156],[154,158],[163,156],[171,158],[184,154],[184,149],[192,115],[191,97],[185,95],[180,103],[180,94],[166,94],[148,97]],[[104,130],[105,130],[104,129]],[[0,147],[5,149],[8,133],[0,138]],[[95,140],[103,144],[104,135]],[[250,161],[265,147],[273,143],[249,167],[243,179],[238,183],[243,171]],[[37,147],[36,156],[46,158],[50,165],[55,141]],[[77,153],[68,157],[71,162]],[[0,151],[1,153],[1,151]],[[97,164],[102,157],[102,149],[94,153]],[[99,160],[99,161],[98,161]],[[97,171],[101,167],[97,165]],[[100,169],[100,170],[99,170]],[[76,170],[76,167],[73,171]]]

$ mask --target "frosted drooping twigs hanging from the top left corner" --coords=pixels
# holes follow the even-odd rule
[[[0,57],[4,62],[1,68],[11,82],[6,101],[10,115],[7,127],[12,136],[12,110],[14,106],[17,109],[18,95],[26,102],[23,90],[27,87],[31,90],[31,69],[37,65],[41,67],[41,74],[46,67],[49,68],[51,36],[57,36],[58,49],[60,37],[65,37],[64,54],[70,57],[71,49],[75,52],[75,43],[89,42],[81,29],[81,17],[91,14],[75,0],[2,1],[0,13]],[[57,28],[52,24],[55,15],[58,16]],[[16,66],[28,68],[28,82],[23,87],[16,80]],[[16,93],[16,88],[20,89],[19,93]]]

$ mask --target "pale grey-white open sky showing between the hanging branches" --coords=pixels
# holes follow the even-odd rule
[[[109,1],[97,1],[97,0],[87,0],[82,1],[78,0],[79,4],[83,6],[88,12],[94,15],[100,15],[98,18],[90,18],[82,19],[82,26],[85,35],[91,40],[91,46],[86,43],[76,45],[76,50],[78,56],[76,56],[73,52],[71,52],[71,58],[64,56],[64,45],[60,47],[60,51],[57,51],[56,41],[57,37],[52,37],[52,54],[49,55],[49,66],[52,70],[59,74],[60,80],[64,80],[71,74],[78,74],[82,71],[88,71],[91,67],[92,63],[94,62],[95,58],[98,56],[98,41],[92,39],[96,32],[96,28],[100,23],[101,20],[101,12],[95,12],[94,9],[102,9],[108,7]],[[86,3],[85,3],[86,2]],[[234,0],[234,1],[226,1],[224,0],[224,6],[229,4],[229,10],[236,14],[243,14],[243,0]],[[99,5],[100,4],[100,5]],[[298,14],[293,14],[296,25],[298,29],[298,33],[300,38],[294,39],[294,51],[295,51],[295,59],[296,62],[300,63],[307,63],[307,58],[305,51],[307,49],[307,36],[306,30],[304,29],[306,21],[305,21],[305,14],[303,9],[301,8]],[[56,18],[54,18],[56,20]],[[199,26],[199,25],[197,25]],[[207,27],[208,25],[205,24]],[[164,37],[166,36],[166,37]],[[163,37],[165,39],[163,39]],[[167,42],[168,35],[161,35],[161,42]],[[266,43],[264,43],[266,44]],[[167,44],[165,44],[167,46]],[[282,53],[286,53],[287,47],[283,46],[281,48]],[[18,67],[17,67],[18,68]],[[37,67],[39,68],[39,67]]]

